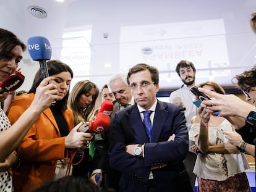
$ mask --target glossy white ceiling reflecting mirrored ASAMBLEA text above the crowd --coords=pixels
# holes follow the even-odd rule
[[[39,19],[28,7],[39,6],[48,17]],[[75,73],[72,83],[89,79],[101,89],[109,75],[127,73],[132,65],[147,63],[160,70],[160,88],[181,85],[177,62],[190,59],[197,68],[197,83],[213,78],[230,86],[231,78],[256,63],[256,35],[249,20],[255,0],[1,0],[1,27],[13,31],[27,44],[30,36],[45,36]],[[61,55],[63,33],[91,30],[75,51]],[[103,38],[104,34],[108,38]],[[143,54],[150,48],[151,54]],[[81,51],[82,50],[82,51]],[[82,59],[81,59],[82,58]],[[78,64],[79,63],[79,64]],[[111,67],[105,67],[108,63]],[[36,62],[24,54],[21,89],[32,84]]]

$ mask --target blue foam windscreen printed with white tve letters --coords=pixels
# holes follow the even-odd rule
[[[33,61],[51,59],[51,45],[43,36],[32,36],[28,39],[28,52]]]

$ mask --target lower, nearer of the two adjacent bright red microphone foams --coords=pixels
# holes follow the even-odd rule
[[[91,133],[102,133],[108,130],[110,125],[110,117],[103,112],[94,115],[89,123],[89,131]]]

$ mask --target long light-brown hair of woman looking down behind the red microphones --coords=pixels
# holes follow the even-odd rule
[[[79,97],[81,94],[89,93],[92,90],[92,88],[95,88],[96,90],[95,98],[93,98],[92,103],[85,110],[83,110],[81,109],[79,104]],[[75,125],[83,121],[89,121],[89,117],[95,108],[95,102],[96,102],[96,99],[98,98],[98,95],[99,95],[99,89],[95,85],[95,83],[93,83],[92,81],[82,80],[75,84],[75,86],[73,87],[70,93],[69,101],[68,101],[69,107],[70,109],[72,109],[74,114]]]

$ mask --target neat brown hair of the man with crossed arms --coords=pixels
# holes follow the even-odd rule
[[[151,73],[151,79],[154,82],[155,85],[158,85],[159,83],[159,72],[158,69],[156,69],[156,67],[147,65],[147,64],[137,64],[134,67],[129,69],[128,75],[127,75],[127,83],[128,85],[130,84],[129,78],[130,75],[132,75],[133,73],[137,73],[140,72],[142,70],[149,70],[149,72]]]

